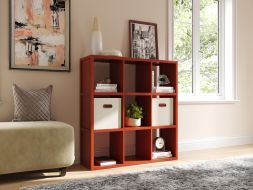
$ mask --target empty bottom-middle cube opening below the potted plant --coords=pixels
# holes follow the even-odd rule
[[[125,160],[151,159],[151,130],[125,132]]]

